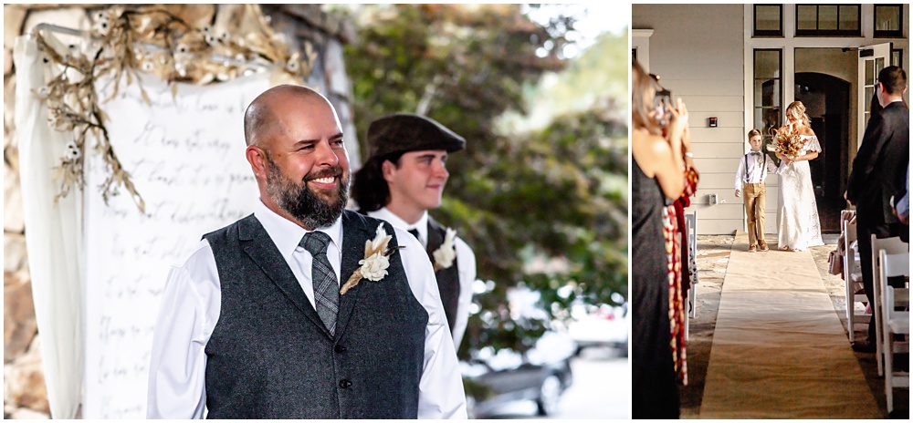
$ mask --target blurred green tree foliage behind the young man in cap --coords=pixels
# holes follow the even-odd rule
[[[460,356],[482,346],[524,351],[542,334],[549,316],[510,310],[510,286],[539,291],[559,318],[575,299],[612,303],[626,293],[624,103],[601,98],[544,129],[498,131],[498,117],[526,108],[524,92],[566,66],[572,18],[541,26],[520,5],[375,5],[356,21],[346,64],[360,138],[371,120],[408,111],[467,139],[448,160],[444,204],[434,211],[473,247],[478,278],[489,281]]]

